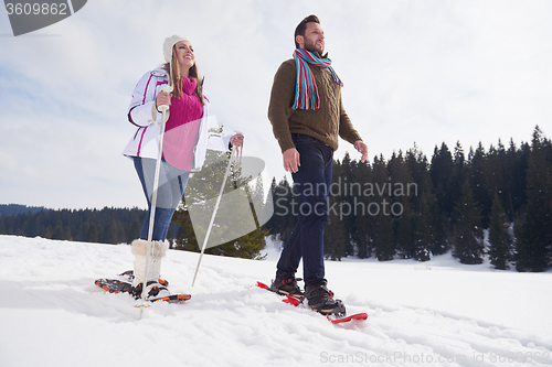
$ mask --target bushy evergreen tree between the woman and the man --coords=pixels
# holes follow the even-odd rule
[[[174,223],[183,227],[181,244],[177,248],[200,251],[200,247],[203,246],[203,240],[199,244],[197,237],[206,236],[214,202],[219,196],[229,159],[229,154],[220,155],[220,153],[209,151],[203,170],[193,175],[193,181],[190,179],[188,182],[183,205],[178,208],[172,218]],[[251,187],[251,176],[243,176],[241,168],[232,165],[221,205],[211,227],[205,253],[251,259],[261,258],[259,253],[265,247],[265,237],[268,235],[268,230],[259,228],[258,217],[255,216],[256,212],[254,211],[255,204],[252,202],[253,197],[257,197],[262,193],[254,192],[252,194],[252,190],[263,191],[263,187],[261,185]],[[195,214],[194,222],[190,217],[191,211],[195,211],[191,213]],[[251,233],[235,239],[235,235],[243,234],[252,225],[256,226],[256,229],[253,227]]]

